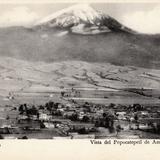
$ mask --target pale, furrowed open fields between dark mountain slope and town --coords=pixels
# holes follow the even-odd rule
[[[109,63],[61,61],[28,62],[13,58],[0,59],[0,101],[11,93],[14,100],[45,102],[53,94],[74,88],[78,98],[100,98],[106,103],[158,103],[159,70],[115,66]],[[39,98],[37,100],[37,98]],[[53,99],[52,98],[52,99]],[[97,99],[98,100],[98,99]]]

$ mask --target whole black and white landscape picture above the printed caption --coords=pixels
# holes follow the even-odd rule
[[[160,3],[1,3],[0,139],[159,139]]]

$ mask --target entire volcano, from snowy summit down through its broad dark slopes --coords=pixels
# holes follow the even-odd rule
[[[0,28],[0,56],[27,61],[85,61],[160,69],[159,53],[160,35],[132,34],[88,5],[58,11],[30,28]],[[134,68],[131,70],[134,78]],[[102,78],[108,82],[106,74]],[[150,81],[159,83],[153,78]]]

